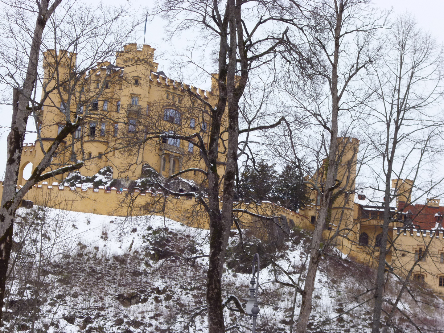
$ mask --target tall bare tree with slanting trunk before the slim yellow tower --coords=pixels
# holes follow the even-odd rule
[[[325,138],[321,142],[325,143],[327,155],[325,163],[318,164],[317,172],[321,172],[321,176],[312,184],[320,198],[320,209],[296,329],[297,333],[303,333],[312,309],[320,243],[329,207],[335,190],[346,181],[337,179],[339,147],[345,144],[339,135],[353,135],[351,130],[360,121],[363,107],[372,94],[369,89],[360,88],[359,79],[365,68],[377,59],[375,36],[384,26],[385,16],[361,0],[305,1],[295,7],[301,21],[288,59],[291,74],[285,86],[296,108],[308,115],[310,123],[313,121],[321,128],[319,132]]]

